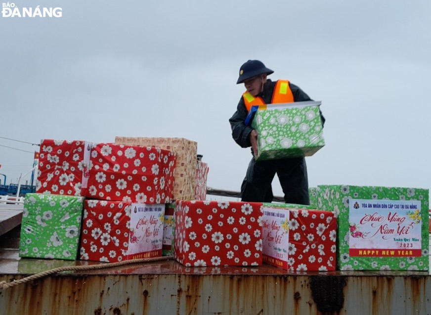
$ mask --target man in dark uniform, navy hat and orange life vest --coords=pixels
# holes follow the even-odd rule
[[[279,93],[289,94],[288,101],[301,102],[310,101],[299,87],[288,81],[272,82],[266,79],[274,71],[265,67],[259,60],[249,60],[244,63],[239,71],[237,84],[244,83],[246,92],[241,97],[235,114],[229,119],[232,128],[232,137],[241,147],[252,146],[252,154],[256,154],[258,149],[258,133],[250,126],[246,126],[244,121],[249,112],[253,100],[260,100],[264,104],[272,103]],[[285,85],[283,89],[278,88]],[[281,95],[284,96],[284,95]],[[322,126],[325,118],[320,113]],[[308,178],[305,158],[285,158],[278,160],[268,160],[256,162],[254,158],[249,163],[247,174],[241,185],[242,201],[271,202],[273,199],[271,183],[277,173],[284,193],[286,203],[296,203],[308,205]]]

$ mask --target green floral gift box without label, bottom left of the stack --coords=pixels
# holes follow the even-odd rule
[[[75,260],[83,200],[78,196],[26,194],[19,256]]]

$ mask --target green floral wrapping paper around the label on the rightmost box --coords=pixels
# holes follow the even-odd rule
[[[339,213],[337,232],[337,260],[340,270],[429,270],[428,189],[352,185],[319,185],[317,187],[317,197],[319,209],[330,210]],[[417,200],[421,206],[421,210],[408,211],[406,220],[412,220],[415,221],[414,224],[422,225],[422,255],[420,257],[350,256],[350,238],[362,237],[362,232],[360,231],[361,229],[357,225],[351,224],[349,222],[349,200],[353,199],[376,201],[392,200],[395,202]],[[356,205],[352,205],[353,209],[355,209],[355,206]],[[382,210],[380,209],[373,209],[370,214],[377,213],[375,216],[377,217],[381,212]],[[392,211],[392,215],[393,212],[394,211]],[[408,236],[403,236],[402,238],[404,237]],[[398,251],[396,250],[395,252]]]

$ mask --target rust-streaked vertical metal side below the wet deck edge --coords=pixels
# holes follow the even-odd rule
[[[158,270],[157,266],[153,266]],[[160,267],[162,269],[162,267]],[[147,271],[148,269],[145,269]],[[3,275],[10,281],[21,275]],[[62,274],[0,291],[3,314],[320,314],[331,291],[345,281],[341,310],[329,314],[430,314],[430,276],[287,274]],[[335,279],[337,280],[337,279]],[[337,281],[335,281],[337,283]],[[325,292],[319,292],[325,296]],[[327,305],[328,306],[328,305]],[[329,304],[329,307],[331,305]]]

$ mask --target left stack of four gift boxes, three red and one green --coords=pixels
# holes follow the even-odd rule
[[[156,147],[43,140],[20,256],[75,260],[80,245],[85,260],[161,256],[174,169],[175,153]]]

